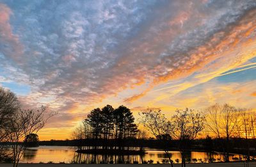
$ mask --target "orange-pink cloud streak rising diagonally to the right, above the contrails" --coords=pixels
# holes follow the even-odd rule
[[[222,74],[224,72],[227,72],[228,70],[231,70],[232,68],[239,67],[246,61],[255,57],[255,36],[248,35],[248,31],[252,32],[252,29],[256,29],[256,23],[254,21],[255,19],[253,15],[256,15],[256,10],[246,13],[246,15],[244,15],[244,17],[242,17],[241,20],[236,25],[228,26],[225,32],[221,31],[215,34],[209,40],[210,43],[206,43],[205,45],[198,47],[195,51],[191,51],[188,60],[185,61],[183,65],[179,65],[177,68],[173,69],[166,75],[154,77],[153,82],[150,84],[147,90],[143,91],[140,94],[125,99],[125,102],[132,102],[143,97],[157,84],[170,81],[171,79],[180,79],[182,77],[188,77],[196,71],[202,72],[202,70],[205,70],[206,65],[209,65],[213,61],[219,60],[220,58],[225,60],[225,63],[213,63],[213,65],[207,67],[207,70],[211,69],[213,71],[206,74],[204,72],[203,74],[200,74],[204,76],[204,79],[200,79],[196,82],[193,81],[193,83],[188,83],[184,85],[182,84],[180,88],[177,88],[175,90],[175,92],[191,88],[191,86],[195,86],[196,83],[198,84],[207,82],[213,79],[214,77],[232,74],[234,72],[254,68],[248,67],[241,70],[236,70],[234,72],[228,72],[227,74]],[[215,42],[216,45],[212,45],[212,42]],[[239,52],[239,54],[237,54],[237,52]],[[176,86],[171,87],[173,88]],[[163,99],[165,97],[168,96],[164,95],[160,99]]]

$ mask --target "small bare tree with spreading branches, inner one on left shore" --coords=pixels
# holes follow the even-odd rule
[[[36,134],[44,127],[49,118],[56,115],[56,113],[51,113],[49,116],[45,116],[45,111],[46,108],[44,106],[36,111],[33,109],[19,109],[15,115],[10,117],[10,123],[4,127],[6,140],[10,141],[13,153],[13,167],[18,166],[20,158],[26,149],[26,145],[22,140],[29,134]]]

